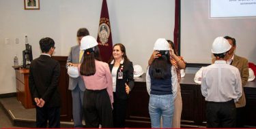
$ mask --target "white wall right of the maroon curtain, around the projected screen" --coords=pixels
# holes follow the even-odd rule
[[[181,55],[190,63],[211,63],[212,42],[216,37],[229,35],[236,39],[236,54],[256,63],[256,17],[210,18],[208,2],[181,1]],[[231,9],[239,10],[234,7]]]

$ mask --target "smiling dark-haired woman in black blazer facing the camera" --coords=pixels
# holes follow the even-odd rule
[[[132,62],[127,58],[122,43],[113,46],[109,68],[113,79],[113,124],[116,128],[124,128],[128,94],[134,86],[134,79]]]

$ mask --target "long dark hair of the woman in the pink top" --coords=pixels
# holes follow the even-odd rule
[[[96,73],[95,60],[101,61],[98,45],[85,50],[83,53],[83,62],[80,69],[81,75],[90,76]]]

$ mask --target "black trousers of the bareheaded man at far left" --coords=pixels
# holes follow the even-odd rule
[[[36,107],[36,127],[46,128],[49,121],[49,128],[60,128],[60,107]]]

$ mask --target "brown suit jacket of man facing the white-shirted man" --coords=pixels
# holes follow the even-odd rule
[[[244,87],[248,81],[249,71],[248,71],[248,60],[246,58],[237,56],[236,54],[233,56],[232,64],[234,67],[237,67],[240,71],[242,87]],[[246,99],[244,95],[244,88],[242,88],[242,96],[236,103],[236,107],[244,107],[246,105]]]

